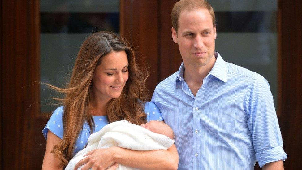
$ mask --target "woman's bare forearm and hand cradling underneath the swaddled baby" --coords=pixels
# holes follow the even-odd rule
[[[123,164],[138,169],[177,169],[178,152],[173,144],[168,150],[136,151],[120,147],[95,149],[88,152],[88,157],[80,160],[76,168],[106,169],[113,163]]]

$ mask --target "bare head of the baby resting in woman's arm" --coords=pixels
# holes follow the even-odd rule
[[[173,130],[170,128],[169,125],[165,124],[164,122],[151,120],[150,122],[146,124],[141,124],[140,126],[150,130],[151,132],[166,135],[172,140],[174,139]]]

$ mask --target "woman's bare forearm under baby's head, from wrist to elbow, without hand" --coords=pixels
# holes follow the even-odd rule
[[[138,169],[177,169],[178,152],[175,145],[168,150],[136,151],[114,148],[114,161]]]

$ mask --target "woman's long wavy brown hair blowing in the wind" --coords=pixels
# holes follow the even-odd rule
[[[92,33],[80,48],[68,86],[58,88],[47,84],[50,89],[65,94],[65,98],[54,98],[64,105],[63,139],[54,146],[52,151],[54,156],[61,161],[58,167],[67,165],[72,158],[76,137],[85,121],[94,131],[94,122],[91,116],[93,72],[101,63],[102,57],[113,51],[126,52],[129,63],[129,78],[120,97],[111,99],[108,104],[108,121],[111,123],[125,119],[133,124],[146,123],[143,108],[147,98],[146,76],[136,64],[133,50],[126,41],[114,33],[106,31]]]

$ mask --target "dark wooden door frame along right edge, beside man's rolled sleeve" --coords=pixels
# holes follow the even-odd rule
[[[278,104],[286,169],[301,169],[302,1],[278,1]],[[278,106],[278,107],[279,107]]]

